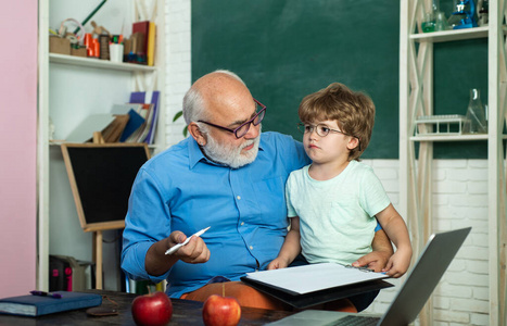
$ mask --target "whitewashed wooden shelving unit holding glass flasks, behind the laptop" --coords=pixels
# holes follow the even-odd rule
[[[489,26],[460,30],[413,34],[420,29],[424,9],[432,1],[401,1],[400,33],[400,170],[401,211],[408,216],[415,253],[432,230],[432,161],[435,141],[487,140],[490,325],[506,325],[506,172],[503,135],[506,118],[505,0],[490,1]],[[418,115],[433,114],[433,43],[487,38],[489,133],[486,135],[415,135]],[[418,42],[418,46],[416,46]],[[460,113],[460,112],[456,112]],[[416,164],[415,143],[419,143]],[[417,256],[415,254],[414,256]],[[419,315],[431,325],[431,300]]]

